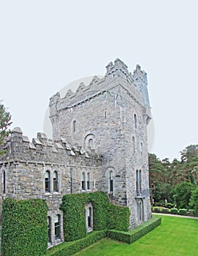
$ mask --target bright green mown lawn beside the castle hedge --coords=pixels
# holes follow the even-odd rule
[[[198,219],[161,216],[159,227],[134,244],[104,238],[75,256],[196,256],[198,255]]]

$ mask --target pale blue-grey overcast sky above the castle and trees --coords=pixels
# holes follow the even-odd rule
[[[49,98],[117,57],[148,73],[160,159],[198,143],[197,1],[0,0],[0,99],[35,138]]]

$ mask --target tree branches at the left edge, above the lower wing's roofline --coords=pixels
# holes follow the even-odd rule
[[[11,115],[6,110],[2,102],[0,102],[0,147],[2,146],[2,144],[4,144],[7,136],[9,135],[7,128],[9,127],[10,124],[12,124],[10,120],[11,120]],[[1,149],[0,155],[4,153],[5,151]]]

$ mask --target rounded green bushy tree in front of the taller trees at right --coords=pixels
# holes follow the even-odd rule
[[[177,208],[189,208],[191,194],[196,185],[183,181],[172,189],[172,196],[175,200]]]

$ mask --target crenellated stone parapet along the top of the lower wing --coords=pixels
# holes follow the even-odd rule
[[[87,159],[91,160],[91,165],[93,162],[95,162],[94,165],[97,165],[102,160],[102,157],[96,154],[92,148],[85,151],[77,143],[69,145],[64,138],[53,141],[42,132],[38,132],[37,138],[30,141],[27,136],[23,135],[20,127],[12,129],[3,148],[7,150],[7,153],[1,157],[1,163],[15,159],[25,162],[32,162],[32,159],[36,162],[56,162],[57,156],[64,163],[77,161],[81,164],[84,162],[85,165],[88,165]]]

